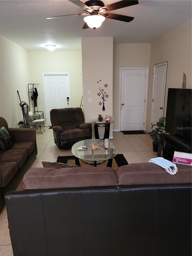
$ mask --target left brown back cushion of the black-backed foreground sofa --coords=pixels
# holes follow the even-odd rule
[[[23,176],[24,189],[81,188],[117,185],[110,167],[32,168]]]

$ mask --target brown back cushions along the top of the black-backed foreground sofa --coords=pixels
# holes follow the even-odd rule
[[[192,182],[192,167],[178,164],[175,175],[159,165],[140,163],[111,167],[78,167],[42,162],[23,177],[23,189],[81,188],[116,185],[182,184]],[[67,167],[67,168],[66,168]],[[77,165],[75,165],[77,167]]]

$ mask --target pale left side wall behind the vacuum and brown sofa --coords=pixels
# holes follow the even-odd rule
[[[26,85],[29,83],[28,51],[1,36],[0,54],[0,116],[6,119],[9,127],[18,127],[23,116],[17,90],[21,101],[26,101]]]

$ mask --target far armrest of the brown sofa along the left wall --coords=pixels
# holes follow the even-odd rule
[[[36,143],[35,128],[8,128],[13,142],[14,141],[34,141]]]

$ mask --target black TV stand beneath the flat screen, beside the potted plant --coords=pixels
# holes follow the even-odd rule
[[[172,134],[161,134],[159,136],[158,156],[173,161],[175,151],[191,153],[191,144]]]

